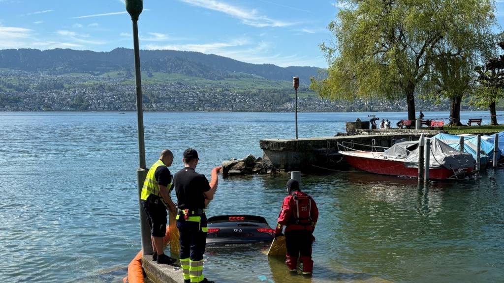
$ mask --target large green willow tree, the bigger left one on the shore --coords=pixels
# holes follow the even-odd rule
[[[328,76],[312,77],[311,89],[330,99],[405,98],[408,119],[415,119],[415,94],[432,90],[438,48],[472,55],[472,44],[495,22],[493,0],[340,3],[347,8],[328,26],[334,45],[321,45]]]

